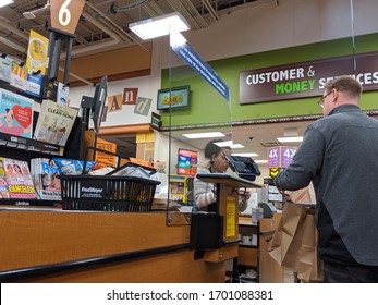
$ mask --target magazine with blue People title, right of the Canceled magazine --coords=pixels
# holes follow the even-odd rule
[[[61,185],[56,162],[48,158],[32,159],[31,169],[39,199],[61,200]]]

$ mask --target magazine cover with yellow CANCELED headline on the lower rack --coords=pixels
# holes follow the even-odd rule
[[[10,198],[36,199],[29,167],[26,161],[3,158]]]

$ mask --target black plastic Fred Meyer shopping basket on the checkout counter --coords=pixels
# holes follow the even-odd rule
[[[150,211],[155,190],[160,184],[160,181],[136,176],[111,175],[119,169],[107,175],[87,175],[85,174],[85,168],[89,149],[119,157],[103,149],[87,147],[83,173],[81,175],[59,176],[63,210]],[[150,172],[155,171],[149,168],[148,170]]]

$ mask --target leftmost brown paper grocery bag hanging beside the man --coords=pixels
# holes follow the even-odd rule
[[[296,271],[298,267],[306,213],[305,207],[286,203],[268,248],[270,256],[280,266],[292,271]]]

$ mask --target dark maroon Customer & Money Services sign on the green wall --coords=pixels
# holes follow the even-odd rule
[[[242,71],[240,103],[320,96],[326,83],[341,75],[355,77],[364,91],[377,90],[378,52]]]

